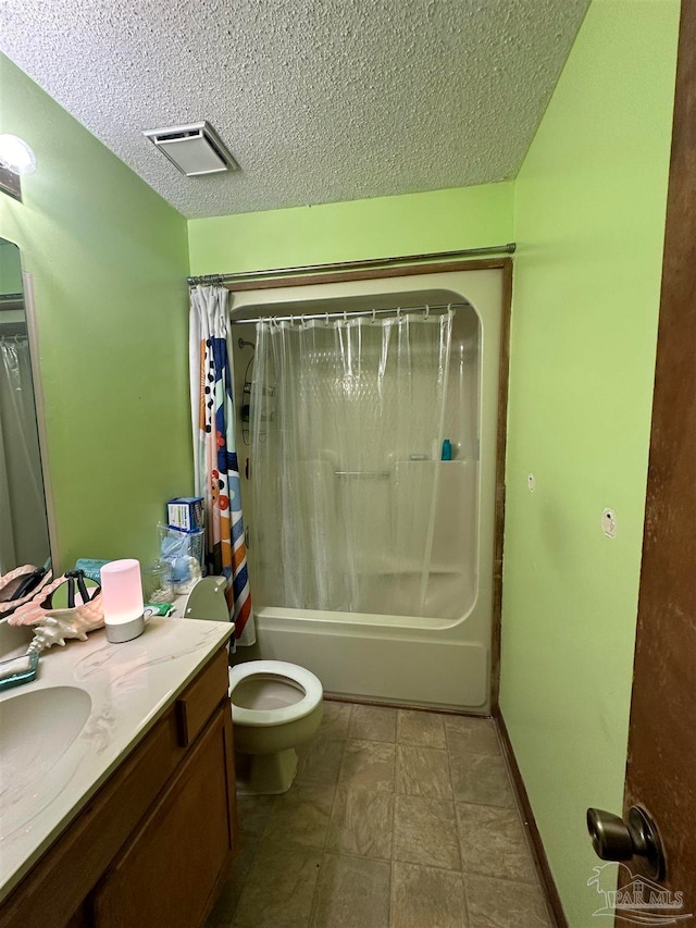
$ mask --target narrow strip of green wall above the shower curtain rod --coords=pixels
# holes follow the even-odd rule
[[[192,274],[504,245],[512,183],[195,219]]]

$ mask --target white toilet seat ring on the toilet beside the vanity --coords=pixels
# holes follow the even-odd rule
[[[304,691],[304,695],[290,706],[274,709],[247,709],[235,705],[235,686],[249,677],[263,675],[284,677],[290,685],[299,685]],[[229,701],[235,725],[262,728],[297,721],[312,713],[321,703],[324,691],[318,677],[310,670],[285,660],[249,660],[229,668]]]

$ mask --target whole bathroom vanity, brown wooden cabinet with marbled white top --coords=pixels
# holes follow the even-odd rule
[[[233,630],[102,630],[0,695],[0,928],[204,921],[236,847]]]

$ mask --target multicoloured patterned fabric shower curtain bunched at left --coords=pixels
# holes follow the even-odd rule
[[[190,292],[189,367],[196,495],[206,507],[208,572],[227,578],[237,644],[256,641],[234,430],[229,321],[224,287]]]

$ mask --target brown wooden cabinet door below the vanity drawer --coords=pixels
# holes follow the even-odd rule
[[[194,928],[231,859],[235,781],[223,705],[92,895],[96,928]]]

